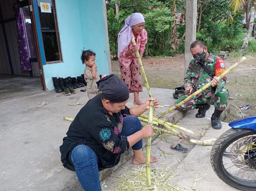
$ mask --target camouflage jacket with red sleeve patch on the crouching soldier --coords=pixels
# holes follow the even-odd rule
[[[205,61],[203,64],[210,70],[210,72],[213,72],[215,76],[221,75],[223,72],[225,72],[225,63],[222,60],[222,58],[219,58],[212,53],[209,52],[209,57],[207,61]],[[186,72],[185,78],[184,78],[184,86],[185,88],[188,86],[193,87],[193,92],[196,90],[202,88],[205,86],[208,82],[210,82],[212,78],[208,75],[207,72],[200,66],[200,64],[192,59],[189,63],[188,70]],[[202,93],[194,96],[193,98],[199,97],[201,94],[204,94],[206,97],[210,97],[212,94],[217,94],[221,89],[226,85],[227,77],[224,76],[222,78],[218,85],[216,87],[208,87]]]

